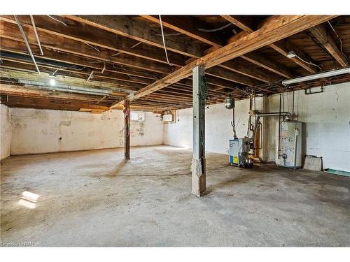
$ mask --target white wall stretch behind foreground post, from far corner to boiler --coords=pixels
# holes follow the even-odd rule
[[[262,98],[256,99],[256,110],[261,110]],[[238,137],[246,136],[248,128],[249,101],[236,101],[235,122]],[[206,150],[209,152],[228,153],[228,141],[233,137],[232,110],[223,103],[209,105],[205,110]],[[164,125],[164,143],[177,147],[193,147],[193,108],[176,111],[176,122]]]

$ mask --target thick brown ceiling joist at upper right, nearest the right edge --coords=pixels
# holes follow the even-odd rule
[[[311,27],[309,31],[311,31],[311,34],[313,34],[318,42],[323,45],[325,50],[337,60],[340,66],[348,66],[346,57],[340,52],[337,43],[335,43],[335,39],[324,24],[318,24],[316,27]]]

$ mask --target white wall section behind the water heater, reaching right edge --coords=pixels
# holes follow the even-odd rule
[[[312,92],[320,88],[311,89]],[[284,94],[285,110],[291,112],[293,93]],[[324,92],[295,92],[295,113],[303,122],[303,154],[323,157],[323,168],[350,171],[350,82],[324,87]],[[270,111],[279,110],[279,95],[268,97]],[[269,119],[269,156],[274,160],[276,122]]]

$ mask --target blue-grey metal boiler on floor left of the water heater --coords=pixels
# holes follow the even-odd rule
[[[253,162],[249,159],[249,139],[230,139],[230,164],[232,166],[252,167]]]

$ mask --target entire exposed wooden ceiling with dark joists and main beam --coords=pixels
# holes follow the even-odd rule
[[[10,106],[25,108],[97,113],[106,107],[123,109],[123,99],[131,100],[135,110],[188,108],[196,65],[206,68],[208,104],[222,103],[228,93],[236,99],[250,92],[274,94],[282,79],[331,70],[335,61],[347,66],[346,54],[350,53],[346,41],[349,20],[338,17],[331,25],[322,24],[335,17],[332,15],[162,15],[171,66],[157,15],[61,15],[59,20],[65,24],[46,15],[34,16],[43,54],[29,15],[18,17],[42,74],[35,73],[14,17],[1,15],[0,94],[1,103],[10,101]],[[290,51],[301,59],[287,59]],[[92,71],[93,78],[87,81]],[[57,90],[48,82],[53,75]],[[309,81],[293,88],[348,79]],[[67,92],[64,88],[70,86],[92,92]],[[127,96],[131,93],[134,95]]]

